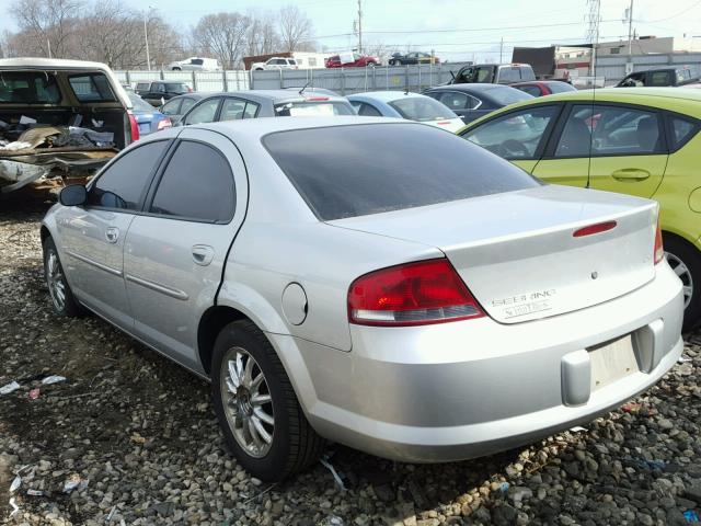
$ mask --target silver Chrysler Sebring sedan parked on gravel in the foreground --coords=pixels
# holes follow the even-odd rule
[[[172,128],[60,202],[41,229],[56,312],[209,378],[265,481],[321,437],[410,462],[510,449],[607,413],[683,348],[654,202],[544,185],[420,123]]]

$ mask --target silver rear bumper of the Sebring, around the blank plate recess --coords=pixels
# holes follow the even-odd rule
[[[321,435],[381,457],[449,461],[590,421],[654,385],[681,354],[682,313],[681,285],[663,263],[640,289],[543,320],[352,325],[349,353],[271,339],[294,347],[281,354]],[[588,369],[570,358],[625,334],[641,370],[590,391]]]

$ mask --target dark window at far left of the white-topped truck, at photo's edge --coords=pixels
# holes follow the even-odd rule
[[[0,103],[58,104],[61,92],[56,77],[34,71],[0,71]]]

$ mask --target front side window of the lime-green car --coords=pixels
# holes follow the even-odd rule
[[[558,111],[558,106],[540,106],[512,112],[468,129],[462,137],[505,159],[536,159]]]

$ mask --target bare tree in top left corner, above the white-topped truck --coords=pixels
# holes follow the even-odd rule
[[[68,56],[82,5],[82,0],[15,1],[11,13],[25,36],[22,46],[32,54]]]

